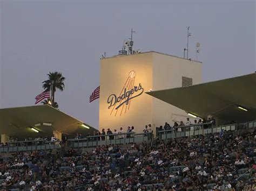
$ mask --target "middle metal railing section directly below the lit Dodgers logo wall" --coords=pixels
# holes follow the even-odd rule
[[[131,143],[143,143],[153,140],[152,133],[117,133],[111,135],[89,136],[84,139],[69,139],[73,148],[88,148],[102,145],[122,145]]]

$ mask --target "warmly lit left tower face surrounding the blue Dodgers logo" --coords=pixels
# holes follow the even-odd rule
[[[134,126],[136,132],[142,132],[145,124],[152,123],[152,97],[145,93],[133,98],[130,102],[130,107],[124,104],[118,111],[113,107],[108,108],[108,97],[111,94],[120,95],[132,70],[135,72],[134,84],[127,89],[132,89],[132,87],[138,86],[139,83],[142,85],[144,92],[152,88],[151,53],[117,56],[100,61],[100,130],[102,128],[119,130],[122,126],[126,131],[127,126]],[[134,95],[136,94],[134,93]],[[113,112],[110,115],[112,110]]]

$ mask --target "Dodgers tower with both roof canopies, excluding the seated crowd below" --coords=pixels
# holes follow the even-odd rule
[[[217,125],[256,119],[256,73],[202,83],[203,63],[158,52],[117,55],[100,60],[99,127],[93,128],[49,105],[0,109],[1,142],[9,137],[92,135],[213,116]],[[36,131],[38,132],[36,132]]]

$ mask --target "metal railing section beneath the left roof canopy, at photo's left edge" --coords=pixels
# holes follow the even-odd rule
[[[22,152],[22,151],[41,151],[60,148],[61,141],[49,142],[46,140],[28,140],[19,142],[9,142],[6,146],[0,147],[0,152]]]

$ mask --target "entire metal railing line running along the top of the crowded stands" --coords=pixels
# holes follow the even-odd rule
[[[256,121],[244,124],[246,129],[256,128]],[[171,130],[158,131],[160,139],[192,137],[206,135],[209,133],[219,133],[221,130],[237,131],[238,124],[228,124],[213,126],[212,123],[191,124],[187,126],[177,126]],[[152,133],[117,133],[112,135],[89,136],[84,139],[68,139],[68,145],[73,148],[87,148],[109,144],[131,144],[151,142],[154,140]],[[29,140],[19,142],[9,142],[6,146],[0,146],[0,152],[22,152],[52,150],[61,147],[61,141],[49,142],[46,140]]]

